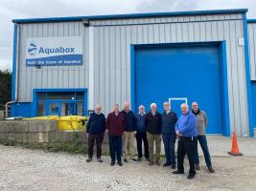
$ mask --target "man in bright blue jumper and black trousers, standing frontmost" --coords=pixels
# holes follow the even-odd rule
[[[181,104],[182,114],[175,124],[176,136],[178,137],[177,144],[177,170],[174,174],[184,174],[184,157],[187,154],[189,159],[189,176],[188,179],[194,179],[196,176],[195,170],[195,155],[196,143],[198,141],[197,132],[197,117],[189,112],[189,107],[186,103]]]

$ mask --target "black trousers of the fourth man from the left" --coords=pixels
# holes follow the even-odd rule
[[[147,133],[140,133],[137,132],[136,134],[136,140],[137,140],[137,151],[138,151],[138,158],[142,158],[142,141],[144,143],[144,156],[146,159],[149,159],[149,143],[147,139]]]

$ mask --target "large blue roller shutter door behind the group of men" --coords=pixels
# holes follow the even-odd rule
[[[221,78],[217,46],[165,46],[135,50],[135,107],[163,111],[163,101],[186,97],[198,101],[209,118],[207,133],[221,134]],[[180,113],[179,104],[172,108]]]

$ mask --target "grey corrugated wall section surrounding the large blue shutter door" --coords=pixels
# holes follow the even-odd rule
[[[151,24],[149,24],[151,23]],[[198,15],[94,21],[94,95],[110,111],[130,100],[130,44],[226,41],[230,125],[248,134],[243,15]],[[156,74],[157,75],[157,74]]]

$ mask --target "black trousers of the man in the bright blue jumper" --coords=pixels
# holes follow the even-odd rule
[[[184,158],[187,154],[189,159],[189,174],[196,175],[195,170],[195,156],[197,154],[196,144],[198,138],[197,137],[180,137],[177,143],[177,170],[179,172],[184,172]]]

